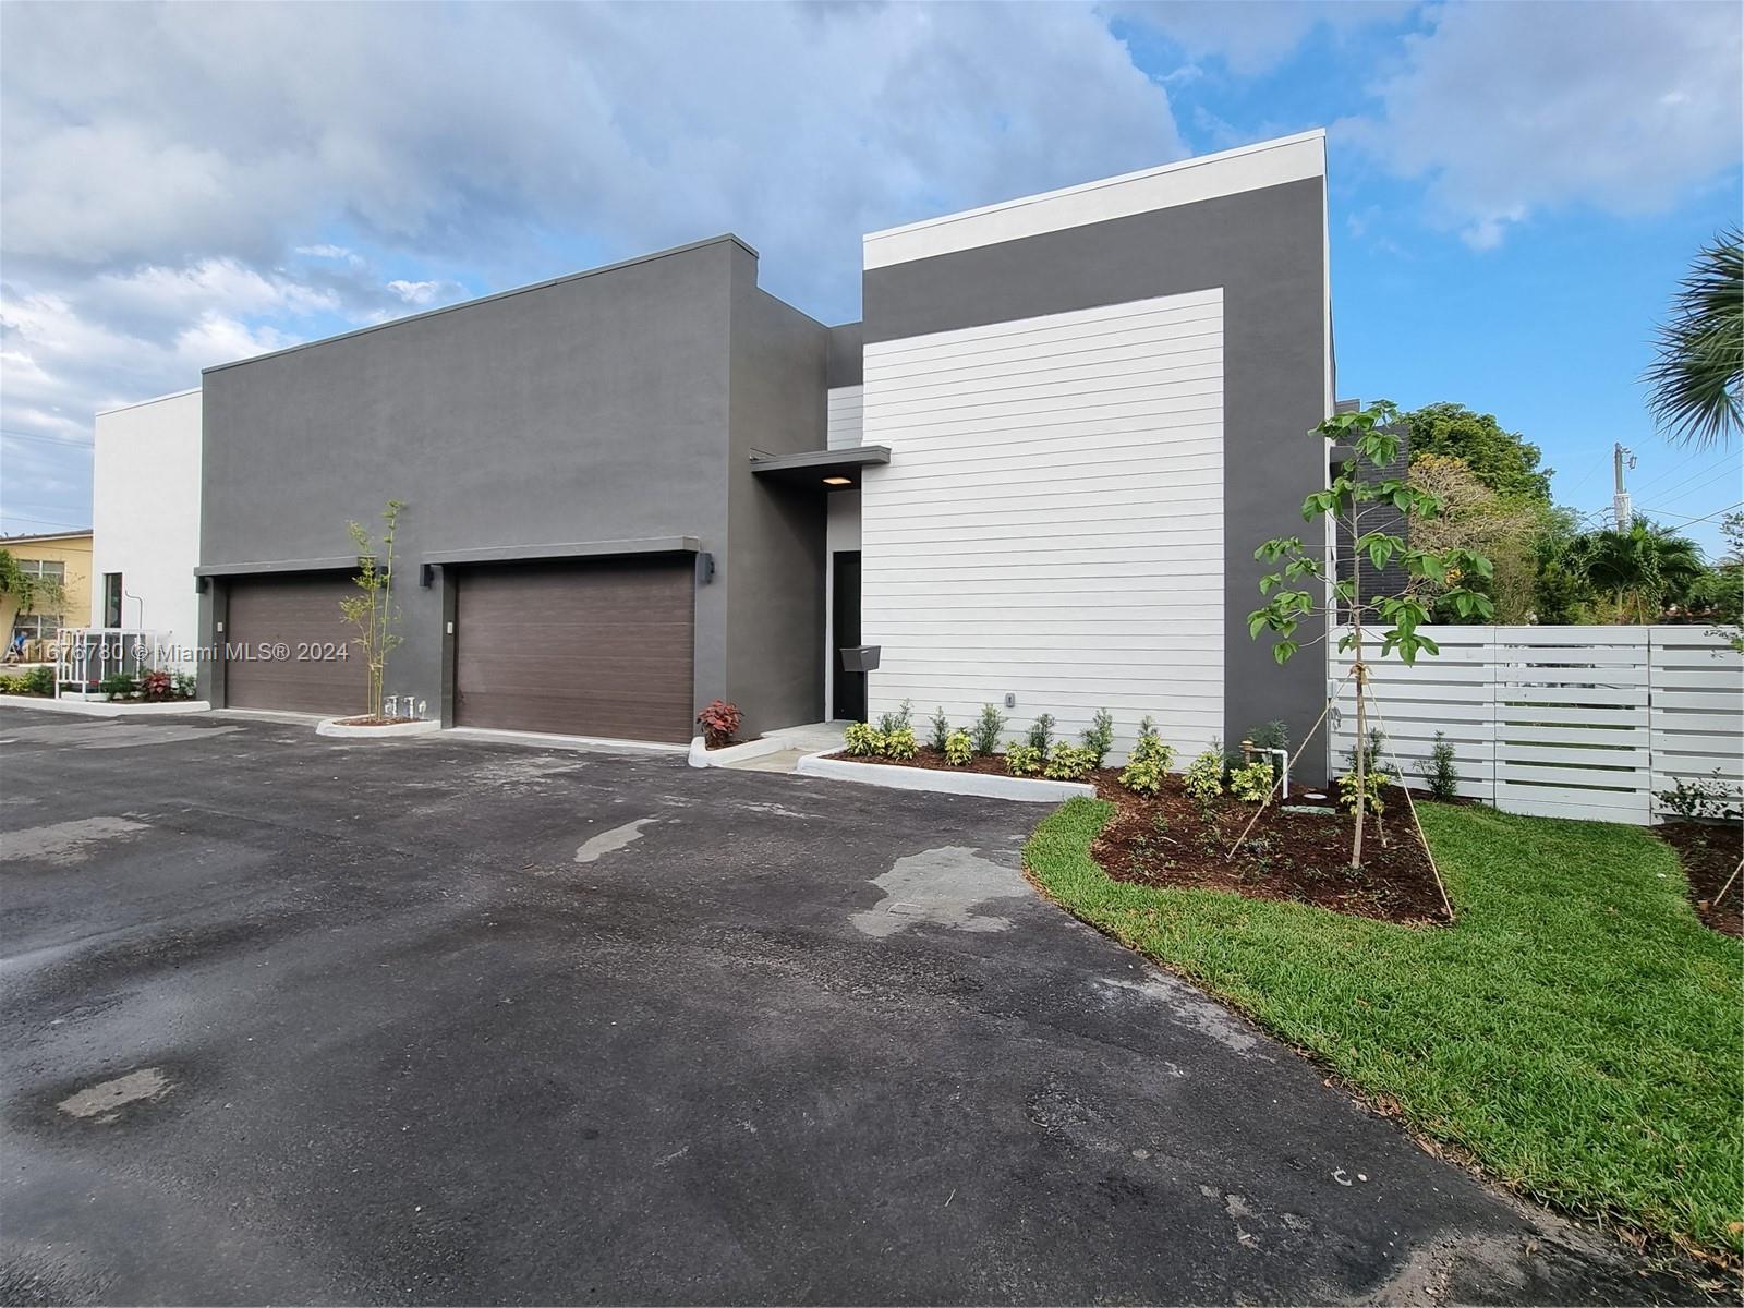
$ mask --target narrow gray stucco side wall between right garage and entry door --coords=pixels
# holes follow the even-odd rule
[[[757,290],[739,256],[732,283],[727,460],[727,684],[743,734],[823,719],[823,485],[753,476],[752,452],[825,446],[830,331]]]

